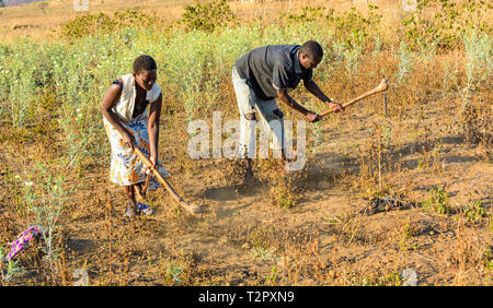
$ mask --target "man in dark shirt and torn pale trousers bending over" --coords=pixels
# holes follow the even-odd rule
[[[323,50],[320,44],[308,40],[299,45],[268,45],[255,48],[241,57],[233,67],[232,82],[240,110],[240,152],[246,157],[246,174],[251,175],[255,145],[256,112],[262,128],[274,143],[280,147],[286,162],[284,144],[284,115],[275,98],[301,112],[309,122],[317,122],[321,117],[296,103],[288,94],[302,80],[305,87],[326,103],[335,112],[343,111],[341,104],[332,102],[313,81],[313,69],[322,61]],[[280,129],[273,123],[280,121]]]

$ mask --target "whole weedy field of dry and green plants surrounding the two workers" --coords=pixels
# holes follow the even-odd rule
[[[0,262],[0,285],[492,284],[491,4],[71,2],[0,8],[0,258],[39,232]],[[234,61],[308,39],[336,102],[382,78],[389,90],[307,122],[296,174],[255,159],[245,185],[234,159],[191,158],[188,123],[238,119]],[[158,63],[159,158],[202,214],[159,189],[146,200],[154,216],[123,217],[100,106],[139,55]],[[301,87],[294,98],[322,112]]]

